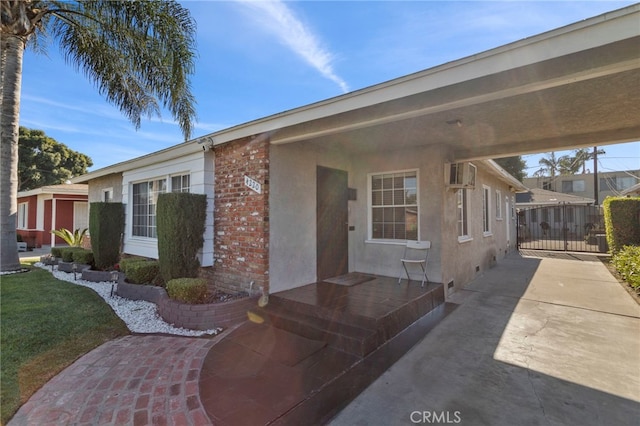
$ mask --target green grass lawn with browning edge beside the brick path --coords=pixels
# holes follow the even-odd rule
[[[91,349],[129,334],[93,290],[49,272],[0,277],[0,424]]]

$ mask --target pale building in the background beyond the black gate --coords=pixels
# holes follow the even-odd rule
[[[640,182],[640,170],[598,173],[598,202],[602,204],[607,197],[618,197]],[[527,188],[541,188],[564,194],[594,199],[595,179],[593,173],[580,175],[560,175],[551,177],[525,178]]]

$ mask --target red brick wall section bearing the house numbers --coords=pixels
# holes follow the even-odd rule
[[[215,153],[214,266],[222,289],[269,289],[269,141],[247,138],[220,145]],[[248,176],[262,185],[245,186]],[[211,275],[206,273],[206,275]]]

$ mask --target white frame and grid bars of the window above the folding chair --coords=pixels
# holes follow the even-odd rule
[[[405,174],[405,178],[407,177],[407,174],[415,174],[415,181],[416,181],[416,186],[415,188],[409,188],[409,189],[415,189],[415,198],[416,198],[416,202],[415,204],[391,204],[391,205],[385,205],[385,204],[381,204],[381,205],[374,205],[374,188],[373,188],[373,181],[374,178],[376,177],[383,177],[383,176],[394,176],[395,175],[400,175],[400,174]],[[403,181],[403,187],[402,190],[405,191],[406,194],[406,190],[407,187],[404,186],[405,181]],[[382,188],[380,191],[382,192],[385,188]],[[392,189],[399,189],[399,188],[392,188]],[[377,189],[375,191],[378,191]],[[384,202],[384,200],[383,200]],[[406,241],[408,241],[408,239],[406,238],[379,238],[379,237],[374,237],[374,209],[383,209],[383,208],[392,208],[392,209],[396,209],[396,208],[404,208],[405,211],[407,208],[415,208],[416,209],[416,235],[415,235],[415,239],[416,240],[420,240],[420,170],[419,169],[404,169],[404,170],[390,170],[390,171],[385,171],[385,172],[374,172],[374,173],[368,173],[367,174],[367,215],[368,215],[368,224],[367,224],[367,242],[369,243],[381,243],[381,244],[385,244],[385,243],[404,243]],[[405,216],[406,217],[406,216]],[[376,221],[376,223],[380,223],[378,221]],[[384,226],[385,223],[387,223],[386,221],[381,222]],[[389,223],[398,223],[398,222],[389,222]],[[405,220],[404,222],[405,224],[405,234],[406,234],[406,225],[407,222]],[[384,231],[383,235],[384,235]],[[405,235],[406,237],[406,235]]]

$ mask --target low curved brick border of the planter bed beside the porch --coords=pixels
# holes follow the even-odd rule
[[[146,300],[158,305],[158,314],[169,324],[190,330],[209,330],[230,327],[247,319],[259,295],[220,303],[193,305],[172,300],[162,287],[118,282],[118,296],[131,300]]]

